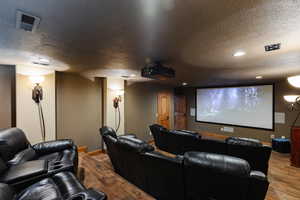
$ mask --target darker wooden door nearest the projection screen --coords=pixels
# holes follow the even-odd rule
[[[175,95],[174,97],[174,127],[175,129],[187,129],[186,119],[186,96]]]

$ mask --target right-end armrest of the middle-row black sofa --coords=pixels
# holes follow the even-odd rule
[[[248,200],[264,200],[269,188],[267,176],[260,171],[250,172],[250,189]]]

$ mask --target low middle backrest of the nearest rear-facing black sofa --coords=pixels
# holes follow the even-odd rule
[[[158,152],[143,154],[146,174],[146,192],[155,199],[184,199],[183,160]]]

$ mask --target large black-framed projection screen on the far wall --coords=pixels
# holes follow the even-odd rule
[[[274,129],[273,85],[196,89],[196,121]]]

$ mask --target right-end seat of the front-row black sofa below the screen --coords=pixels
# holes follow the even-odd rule
[[[259,140],[230,137],[226,139],[227,154],[245,159],[251,169],[268,174],[271,147],[263,145]]]

